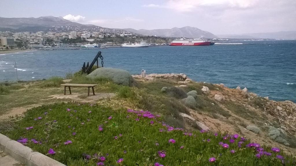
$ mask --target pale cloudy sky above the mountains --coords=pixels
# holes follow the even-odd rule
[[[0,0],[0,17],[64,17],[108,28],[192,26],[218,34],[296,30],[296,0]]]

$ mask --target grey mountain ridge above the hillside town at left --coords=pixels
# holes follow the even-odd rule
[[[100,32],[106,33],[120,33],[126,32],[126,30],[113,30],[110,28],[99,27],[96,25],[84,25],[77,22],[71,22],[63,19],[62,17],[30,17],[30,18],[4,18],[0,17],[0,31],[46,31],[52,26],[79,26],[81,28],[96,28]]]

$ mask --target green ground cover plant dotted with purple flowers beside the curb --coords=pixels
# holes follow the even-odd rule
[[[66,165],[295,165],[238,134],[188,132],[149,111],[56,103],[32,108],[5,134]]]

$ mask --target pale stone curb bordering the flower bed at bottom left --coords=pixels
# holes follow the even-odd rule
[[[31,148],[9,139],[3,134],[0,134],[0,149],[27,166],[65,166],[44,154],[34,152]]]

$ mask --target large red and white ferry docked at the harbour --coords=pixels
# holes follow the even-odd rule
[[[170,45],[172,46],[195,46],[195,45],[210,45],[211,41],[207,40],[204,37],[200,37],[198,39],[187,39],[180,38],[178,40],[173,40]]]

